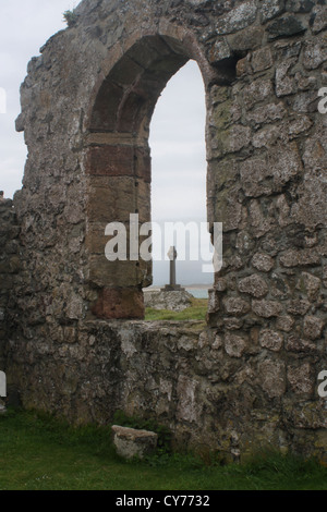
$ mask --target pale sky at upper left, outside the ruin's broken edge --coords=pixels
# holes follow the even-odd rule
[[[27,63],[66,26],[62,13],[73,7],[70,0],[0,0],[0,87],[7,95],[7,113],[0,113],[0,190],[5,197],[22,186],[26,146],[14,121],[21,111],[20,86]]]

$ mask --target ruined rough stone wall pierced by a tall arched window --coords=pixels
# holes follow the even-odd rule
[[[325,0],[84,0],[76,14],[28,64],[23,188],[0,203],[10,389],[77,423],[155,417],[227,458],[272,444],[326,459]],[[150,219],[148,126],[190,58],[208,220],[223,222],[206,328],[143,321],[150,264],[104,255],[108,222]]]

